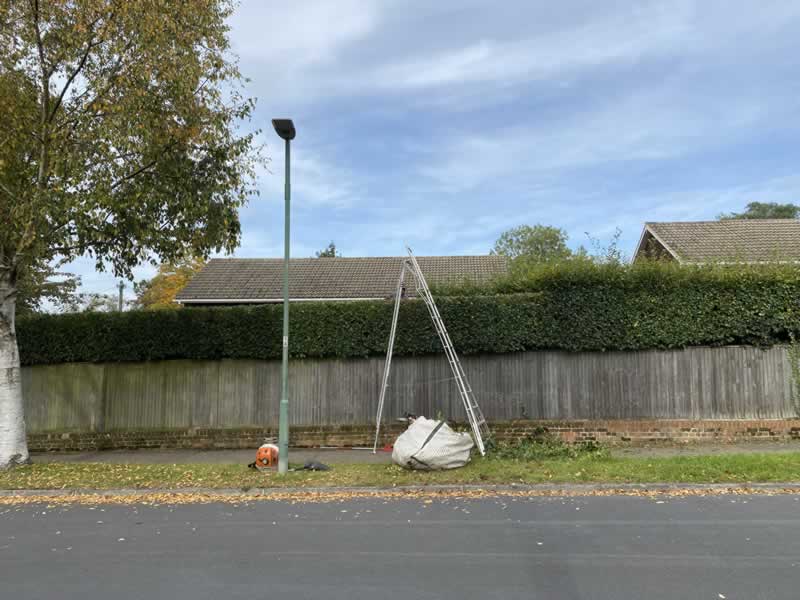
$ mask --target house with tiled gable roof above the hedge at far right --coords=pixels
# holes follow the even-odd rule
[[[633,259],[680,264],[800,263],[800,220],[645,223]]]

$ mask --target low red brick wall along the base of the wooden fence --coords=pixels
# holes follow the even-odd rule
[[[492,426],[498,440],[525,437],[540,427],[569,443],[594,441],[605,445],[653,443],[740,442],[800,440],[800,419],[691,421],[507,421]],[[403,431],[389,426],[381,443],[391,443]],[[270,428],[170,429],[107,433],[35,433],[28,436],[32,452],[139,449],[139,448],[255,448],[265,437],[277,437]],[[294,427],[290,443],[296,447],[372,446],[375,430],[366,426]]]

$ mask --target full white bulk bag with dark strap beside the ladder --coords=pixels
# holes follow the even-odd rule
[[[469,462],[472,437],[456,433],[444,421],[418,417],[394,443],[392,462],[407,469],[457,469]]]

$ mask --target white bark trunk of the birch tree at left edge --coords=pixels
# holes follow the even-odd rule
[[[0,270],[0,470],[30,462],[14,329],[15,304],[14,277],[9,270]]]

